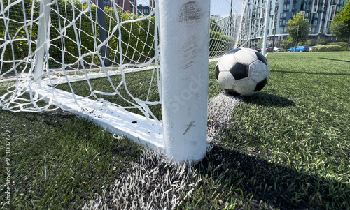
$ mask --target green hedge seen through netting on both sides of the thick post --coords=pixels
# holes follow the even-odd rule
[[[5,3],[8,0],[3,0]],[[25,1],[25,13],[27,18],[31,17],[33,14],[34,20],[38,18],[40,3],[34,1],[34,8],[32,10],[32,1]],[[51,28],[50,28],[50,67],[59,68],[62,61],[64,63],[74,63],[77,62],[79,55],[83,57],[83,61],[86,63],[97,63],[100,61],[96,53],[96,46],[100,45],[99,41],[99,27],[97,26],[97,7],[92,5],[92,9],[89,13],[83,15],[77,15],[80,11],[87,9],[87,4],[82,3],[81,1],[74,1],[74,10],[75,17],[73,17],[73,6],[71,3],[66,3],[65,0],[57,0],[57,3],[54,3],[51,6]],[[57,14],[56,10],[59,10]],[[113,17],[108,17],[106,15],[106,31],[112,31],[113,28],[117,26],[116,13],[111,11],[113,8],[106,7],[104,8],[106,14],[112,14]],[[67,12],[66,12],[67,11]],[[90,13],[94,20],[90,19]],[[119,20],[135,20],[140,18],[138,15],[123,13],[122,10],[118,10]],[[24,28],[21,22],[24,20],[22,3],[15,4],[9,10],[9,17],[15,21],[10,22],[10,27],[8,28],[8,33],[5,35],[5,22],[0,19],[0,37],[10,36],[15,41],[12,42],[13,48],[10,45],[6,45],[6,48],[0,48],[0,54],[3,53],[3,59],[6,61],[22,61],[27,56],[28,53],[34,52],[36,50],[36,43],[34,40],[38,38],[38,24],[34,23],[32,27]],[[64,18],[62,18],[64,17]],[[65,19],[65,20],[64,20]],[[76,27],[78,30],[78,43],[76,31],[74,30],[73,25],[70,25],[73,20],[76,20]],[[123,62],[127,63],[130,61],[135,62],[144,62],[145,60],[154,57],[154,38],[153,33],[155,31],[155,20],[154,17],[150,17],[146,20],[139,22],[128,22],[124,23],[121,27],[121,30],[117,30],[113,37],[109,40],[109,58],[111,60],[119,63],[120,61],[120,45],[118,42],[119,33],[121,32],[123,49]],[[60,34],[64,28],[64,39]],[[31,37],[31,49],[27,43],[27,34],[26,30],[29,31]],[[94,37],[97,37],[95,40]],[[22,38],[20,40],[19,38]],[[95,43],[96,42],[96,43]],[[3,44],[3,41],[0,40],[0,45]],[[211,56],[221,56],[232,50],[232,47],[235,44],[235,40],[228,38],[228,36],[219,33],[218,31],[210,31],[210,55]],[[13,57],[13,54],[15,57]],[[28,63],[22,63],[20,68],[25,68],[25,65]],[[3,70],[8,70],[16,63],[5,63],[3,64]],[[30,63],[29,63],[30,65]]]

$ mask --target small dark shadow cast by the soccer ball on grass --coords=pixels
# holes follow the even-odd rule
[[[256,105],[262,105],[265,107],[293,107],[295,103],[293,100],[283,98],[281,96],[276,96],[267,93],[256,93],[253,96],[248,96],[243,98],[245,103],[251,103]]]

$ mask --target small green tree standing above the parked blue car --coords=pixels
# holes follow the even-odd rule
[[[290,43],[295,43],[295,47],[298,42],[306,42],[309,38],[309,20],[304,19],[302,13],[297,13],[287,22],[288,27],[286,30],[289,33],[288,40]]]

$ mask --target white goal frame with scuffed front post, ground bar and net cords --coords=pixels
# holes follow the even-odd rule
[[[118,10],[116,2],[112,1],[112,12]],[[6,6],[6,3],[8,5]],[[6,15],[10,15],[6,10],[10,9],[10,3],[16,2],[2,1],[1,0],[1,13],[3,22],[6,24]],[[24,1],[21,2],[24,5]],[[66,1],[66,6],[69,3],[73,4],[73,1]],[[91,13],[92,2],[87,1],[85,10],[87,12],[73,14],[74,18],[79,18],[79,15],[88,15]],[[71,86],[73,80],[68,80],[68,66],[62,62],[62,72],[64,77],[54,78],[50,77],[52,70],[50,69],[50,27],[52,19],[52,9],[59,8],[57,1],[55,0],[41,0],[40,1],[40,15],[38,16],[38,38],[36,40],[36,49],[34,50],[30,59],[34,60],[34,65],[29,68],[27,77],[29,80],[22,80],[22,77],[18,77],[20,81],[15,85],[16,91],[8,91],[8,94],[1,99],[1,105],[8,110],[24,110],[24,111],[40,111],[49,110],[51,105],[61,107],[64,110],[69,110],[80,114],[88,119],[99,124],[103,128],[116,133],[118,135],[126,135],[127,137],[134,139],[141,144],[145,144],[147,147],[153,147],[153,149],[159,149],[164,152],[169,159],[176,162],[183,162],[186,160],[197,161],[204,157],[207,148],[207,93],[208,93],[208,70],[209,70],[209,8],[210,1],[156,1],[156,6],[153,11],[155,15],[155,24],[160,23],[160,75],[162,86],[159,88],[160,100],[162,100],[162,121],[157,119],[151,119],[151,115],[148,114],[148,108],[143,104],[146,101],[133,98],[138,103],[140,110],[144,112],[146,116],[141,116],[128,112],[127,110],[115,106],[111,103],[107,103],[104,99],[91,100],[87,97],[77,96],[74,91],[71,93],[62,91],[55,88],[55,84],[59,84],[59,80],[67,80]],[[19,4],[19,6],[21,6]],[[34,7],[34,3],[33,3]],[[82,8],[83,10],[84,8]],[[114,10],[113,10],[114,9]],[[193,13],[192,9],[197,10]],[[73,10],[74,12],[75,10]],[[158,13],[159,11],[159,13]],[[60,11],[56,10],[58,15]],[[64,12],[64,11],[63,11]],[[152,14],[151,14],[152,15]],[[151,15],[148,17],[150,18]],[[62,16],[61,16],[62,17]],[[118,15],[114,16],[118,19]],[[34,18],[28,18],[35,23]],[[25,20],[26,22],[27,20]],[[64,20],[63,20],[64,21]],[[111,41],[113,33],[121,31],[123,23],[134,22],[134,20],[116,20],[117,26],[109,31],[109,38],[106,41]],[[7,23],[9,24],[10,21]],[[24,22],[24,24],[25,24]],[[69,24],[73,25],[76,36],[82,31],[78,31],[78,22],[71,21],[68,24],[61,24],[62,27],[59,30],[68,31]],[[96,26],[96,22],[94,22]],[[93,26],[93,25],[92,25]],[[25,25],[28,27],[28,25]],[[33,27],[33,24],[30,25]],[[155,27],[155,31],[152,33],[155,36],[158,35],[158,27]],[[179,34],[179,31],[182,31]],[[10,32],[10,31],[6,31]],[[28,33],[28,32],[27,32]],[[60,33],[59,36],[63,36],[64,33]],[[119,33],[118,36],[123,34]],[[96,35],[94,35],[96,36]],[[28,36],[30,37],[30,35]],[[52,39],[52,38],[51,38]],[[97,37],[95,37],[96,42]],[[155,38],[157,40],[157,38]],[[67,40],[62,40],[62,43]],[[83,41],[80,38],[73,40],[78,47],[83,47]],[[106,42],[105,41],[105,42]],[[5,42],[6,43],[6,42]],[[120,54],[121,45],[119,43]],[[64,45],[64,44],[63,44]],[[153,63],[155,72],[158,70],[158,43],[153,43],[155,49],[155,59],[150,59],[148,63]],[[12,45],[13,46],[13,45]],[[99,49],[104,46],[104,43],[95,43],[96,52],[94,53],[98,59],[102,59],[98,53]],[[189,48],[190,47],[190,48]],[[4,49],[6,50],[6,49]],[[64,50],[64,48],[62,49]],[[184,53],[181,53],[184,52]],[[65,54],[62,55],[64,57]],[[83,66],[83,80],[89,82],[92,75],[87,75],[86,63],[83,61],[84,54],[78,49],[78,59],[76,65]],[[28,59],[28,58],[26,58]],[[123,59],[123,56],[120,56]],[[120,64],[123,61],[120,62]],[[85,66],[85,68],[84,68]],[[132,64],[123,64],[118,66],[118,72],[125,76],[125,70]],[[142,65],[141,65],[142,66]],[[144,65],[147,66],[147,65]],[[102,62],[102,73],[106,71],[106,66]],[[17,73],[18,69],[15,69]],[[110,77],[112,73],[106,73],[104,76]],[[48,78],[45,77],[48,75]],[[191,77],[193,75],[193,77]],[[76,75],[77,77],[79,75]],[[31,79],[32,77],[32,79]],[[124,81],[124,80],[123,80]],[[120,82],[120,85],[123,82]],[[90,86],[91,87],[91,86]],[[20,93],[18,93],[18,90]],[[15,96],[19,94],[29,93],[29,103],[34,107],[25,108],[25,105],[15,103],[18,100]],[[13,93],[11,95],[11,93]],[[102,91],[92,91],[92,93],[102,93]],[[116,93],[111,94],[117,94]],[[106,93],[109,95],[109,93]],[[178,100],[179,99],[179,100]],[[24,97],[21,100],[26,100]],[[44,107],[39,107],[38,101],[45,100],[48,104]],[[178,103],[178,104],[176,104]],[[150,102],[150,104],[152,104]],[[17,105],[17,106],[16,106]],[[14,107],[18,107],[16,110]],[[147,115],[148,114],[148,115]],[[164,132],[163,132],[164,130]]]

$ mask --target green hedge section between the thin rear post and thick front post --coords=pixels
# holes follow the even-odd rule
[[[59,6],[64,6],[64,2],[61,1]],[[76,2],[75,6],[80,10],[85,10],[87,7],[87,5],[82,5],[79,2]],[[113,8],[104,8],[106,14],[113,14],[112,18],[106,15],[106,31],[112,31],[118,24],[118,22],[116,22],[116,15],[113,11],[111,11],[111,9]],[[59,10],[63,11],[61,13],[64,13],[64,8],[60,8]],[[67,10],[70,11],[71,8],[67,8]],[[92,6],[91,13],[92,17],[96,18],[96,6]],[[73,20],[72,13],[60,15],[64,15],[64,17],[67,17],[67,19],[69,20]],[[54,18],[52,18],[52,20],[54,20],[52,22],[52,26],[55,26],[57,29],[59,29],[58,17],[55,18],[57,14],[52,14],[52,16],[54,16]],[[139,18],[139,16],[135,14],[123,13],[121,10],[118,10],[118,16],[119,20],[123,20],[123,22],[127,20],[136,20]],[[77,20],[76,22],[76,24],[79,24],[77,25],[77,27],[83,30],[79,32],[79,39],[82,44],[80,47],[80,53],[84,55],[83,60],[87,63],[101,63],[97,57],[97,54],[87,55],[89,52],[96,52],[94,43],[95,41],[97,42],[97,46],[101,44],[101,41],[99,40],[99,27],[97,27],[97,24],[94,24],[95,28],[93,28],[92,22],[94,24],[94,22],[97,22],[97,19],[91,20],[90,17],[87,17],[86,15],[81,15],[79,20]],[[122,38],[121,47],[123,49],[123,62],[127,63],[132,60],[142,62],[148,58],[154,57],[154,38],[153,36],[151,36],[151,34],[153,34],[154,29],[154,17],[139,22],[128,22],[122,25],[120,31]],[[150,33],[148,33],[148,31]],[[119,33],[120,32],[117,29],[117,31],[113,34],[113,37],[109,39],[108,43],[109,59],[112,59],[117,63],[119,63],[120,61],[120,46],[118,42]],[[62,49],[66,49],[67,53],[64,54],[64,62],[73,63],[77,60],[78,45],[74,43],[76,42],[76,34],[73,29],[73,26],[66,29],[66,36],[68,38],[65,39],[64,47],[62,47],[60,39],[55,40],[56,37],[59,37],[58,31],[51,33],[50,36],[51,39],[53,38],[53,47],[50,47],[50,56],[52,56],[52,59],[62,61]],[[97,37],[96,40],[94,39],[94,36]]]

